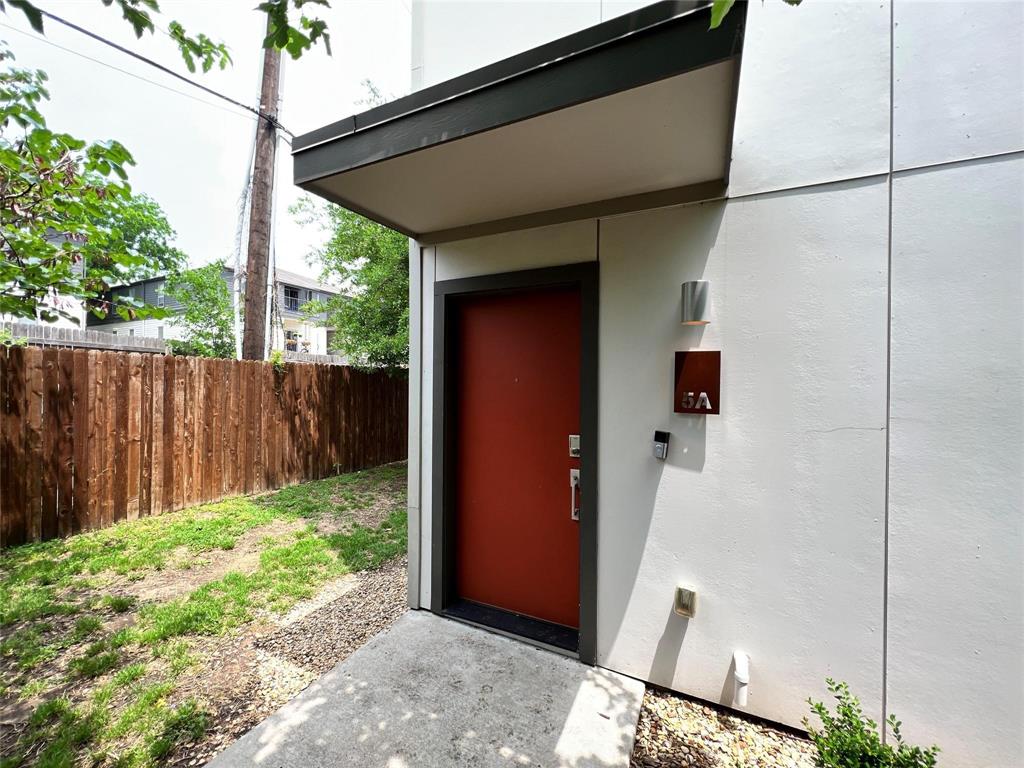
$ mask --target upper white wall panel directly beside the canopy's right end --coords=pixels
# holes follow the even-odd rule
[[[729,195],[889,168],[889,3],[751,3]]]

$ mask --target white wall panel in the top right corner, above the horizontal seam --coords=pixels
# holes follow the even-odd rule
[[[895,167],[1024,150],[1024,3],[893,10]]]

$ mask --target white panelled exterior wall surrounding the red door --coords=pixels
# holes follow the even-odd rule
[[[438,16],[424,84],[594,23],[580,5],[543,35],[529,4],[528,35],[478,8],[468,34],[501,34],[469,53]],[[943,768],[1024,765],[1021,65],[1017,2],[752,3],[728,203],[605,219],[599,246],[590,220],[423,249],[422,603],[432,284],[596,254],[599,663],[722,701],[740,648],[768,719],[833,675]],[[694,278],[702,332],[678,323]],[[723,352],[719,417],[671,413],[697,347]]]

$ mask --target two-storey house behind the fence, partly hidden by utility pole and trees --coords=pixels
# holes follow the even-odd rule
[[[234,270],[225,267],[224,282],[228,290],[232,290]],[[124,321],[116,314],[106,317],[89,315],[89,328],[96,328],[115,334],[128,336],[151,336],[161,339],[180,338],[181,330],[172,322],[173,315],[183,311],[182,305],[164,290],[163,276],[138,281],[126,286],[114,288],[112,293],[121,296],[131,296],[146,304],[166,308],[170,314],[162,318],[146,318]],[[325,328],[324,315],[306,318],[302,307],[309,301],[326,301],[336,296],[338,291],[330,286],[285,269],[276,270],[274,282],[275,301],[274,314],[271,321],[271,349],[281,349],[312,354],[327,354],[333,340],[333,331]]]

